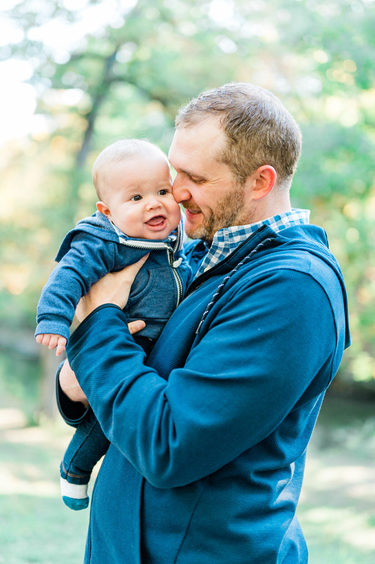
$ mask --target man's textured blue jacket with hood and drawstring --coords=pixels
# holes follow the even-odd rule
[[[146,364],[122,310],[92,312],[67,348],[111,442],[85,562],[307,562],[306,448],[349,344],[340,268],[309,225],[261,227],[195,279]]]

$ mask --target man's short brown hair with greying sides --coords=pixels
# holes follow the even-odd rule
[[[230,82],[199,94],[178,110],[176,129],[221,116],[227,143],[218,160],[240,184],[262,165],[271,165],[278,186],[291,184],[301,154],[302,135],[292,114],[269,90],[248,82]]]

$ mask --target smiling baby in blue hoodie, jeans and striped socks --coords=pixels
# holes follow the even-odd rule
[[[166,155],[139,139],[120,140],[102,151],[92,169],[97,211],[70,231],[60,246],[37,309],[38,343],[59,356],[69,339],[75,308],[92,284],[150,253],[124,308],[128,321],[142,319],[135,341],[146,356],[180,303],[191,270],[182,251],[180,207],[172,196]],[[87,484],[109,442],[90,411],[61,462],[61,495],[72,509],[88,505]]]

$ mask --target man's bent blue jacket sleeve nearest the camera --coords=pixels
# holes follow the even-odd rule
[[[215,472],[272,433],[335,347],[323,288],[279,270],[244,280],[168,382],[143,364],[115,307],[86,318],[67,354],[106,437],[168,488]]]

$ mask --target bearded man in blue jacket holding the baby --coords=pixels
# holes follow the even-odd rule
[[[67,349],[79,384],[60,373],[65,420],[88,400],[111,441],[85,562],[307,562],[306,447],[350,336],[325,232],[289,202],[300,149],[260,87],[225,85],[178,113],[173,194],[197,275],[146,364],[122,312],[142,261],[101,279]]]

